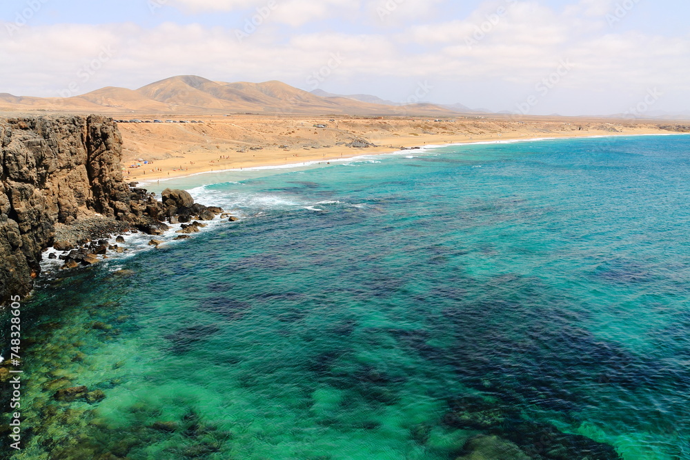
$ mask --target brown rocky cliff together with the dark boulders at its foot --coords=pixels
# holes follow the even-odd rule
[[[107,117],[0,119],[3,302],[31,290],[41,252],[54,243],[69,250],[127,228],[161,234],[168,229],[162,220],[176,221],[177,209],[124,182],[121,154],[120,133]],[[183,219],[208,217],[206,207],[184,204]]]

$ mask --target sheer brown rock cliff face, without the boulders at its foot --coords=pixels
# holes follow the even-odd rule
[[[0,297],[24,294],[56,223],[99,212],[116,217],[126,199],[121,137],[104,117],[0,119]],[[123,211],[124,206],[119,206]],[[10,292],[11,291],[11,292]]]

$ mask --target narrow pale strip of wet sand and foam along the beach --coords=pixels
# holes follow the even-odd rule
[[[507,144],[507,143],[522,143],[522,142],[540,142],[540,141],[557,141],[566,139],[605,139],[605,138],[615,138],[615,137],[653,137],[653,136],[687,136],[690,135],[688,132],[649,132],[649,133],[609,133],[609,134],[590,134],[590,135],[572,135],[567,134],[564,136],[550,136],[550,137],[534,137],[534,138],[524,138],[524,137],[513,137],[506,139],[497,139],[491,141],[460,141],[460,142],[449,142],[442,144],[424,144],[422,146],[402,146],[402,148],[386,148],[384,150],[377,150],[375,152],[365,152],[366,149],[361,149],[359,152],[352,152],[351,155],[341,156],[331,159],[319,159],[319,160],[308,160],[302,163],[286,163],[286,164],[275,164],[267,162],[262,163],[257,166],[248,166],[246,168],[226,168],[220,170],[214,170],[213,168],[208,170],[200,170],[196,172],[190,172],[190,174],[179,174],[174,176],[159,176],[159,174],[152,173],[152,179],[139,179],[137,182],[139,186],[155,186],[158,182],[167,182],[176,179],[188,179],[190,177],[197,177],[203,174],[223,174],[227,172],[256,172],[262,170],[280,170],[280,169],[295,169],[308,166],[322,165],[323,163],[342,163],[346,161],[351,161],[355,159],[365,159],[367,157],[380,157],[384,155],[391,154],[405,154],[407,152],[425,152],[428,150],[435,150],[444,147],[453,146],[481,146],[481,145],[491,145],[491,144]],[[385,151],[389,150],[389,151]]]

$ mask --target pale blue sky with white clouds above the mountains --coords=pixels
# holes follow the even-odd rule
[[[3,0],[0,92],[180,74],[522,114],[690,114],[687,0]]]

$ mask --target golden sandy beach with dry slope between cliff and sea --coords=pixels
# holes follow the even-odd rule
[[[669,122],[597,119],[457,117],[435,121],[249,115],[192,119],[201,123],[119,123],[126,179],[153,181],[200,172],[328,162],[430,144],[675,132]],[[362,145],[367,147],[357,147]]]

